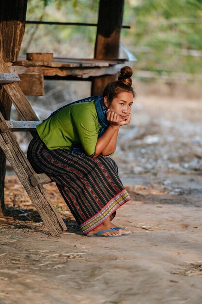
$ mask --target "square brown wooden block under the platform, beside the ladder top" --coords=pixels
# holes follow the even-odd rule
[[[44,76],[41,74],[20,74],[19,86],[23,93],[28,96],[43,96]]]

